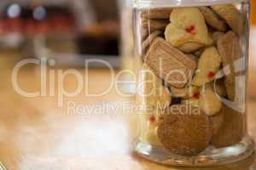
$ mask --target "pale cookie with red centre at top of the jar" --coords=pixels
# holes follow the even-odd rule
[[[166,26],[166,41],[189,53],[212,43],[205,18],[199,8],[175,8]]]

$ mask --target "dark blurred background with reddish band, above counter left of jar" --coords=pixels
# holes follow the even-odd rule
[[[2,0],[0,53],[84,65],[84,58],[119,66],[119,2],[115,0]],[[106,8],[108,5],[108,8]]]

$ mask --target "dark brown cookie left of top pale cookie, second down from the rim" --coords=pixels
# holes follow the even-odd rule
[[[148,29],[148,32],[153,32],[157,30],[164,31],[166,26],[170,23],[169,20],[148,20],[142,19],[142,26],[144,29]]]

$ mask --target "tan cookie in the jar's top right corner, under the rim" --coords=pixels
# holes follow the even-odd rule
[[[244,17],[234,5],[215,5],[212,6],[212,9],[227,22],[238,36],[244,33],[246,26]]]

